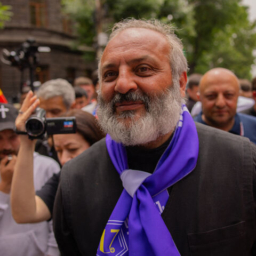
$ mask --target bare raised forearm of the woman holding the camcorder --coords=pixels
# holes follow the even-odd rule
[[[35,142],[26,135],[20,135],[21,144],[15,164],[12,187],[11,206],[12,214],[18,223],[33,221],[36,212],[33,153]]]

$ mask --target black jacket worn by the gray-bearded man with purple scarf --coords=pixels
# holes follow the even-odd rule
[[[256,255],[256,147],[202,124],[197,131],[196,168],[172,186],[163,220],[182,256]],[[96,255],[122,190],[104,139],[63,166],[53,212],[62,255]]]

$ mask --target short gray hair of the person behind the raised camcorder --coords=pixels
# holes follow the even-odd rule
[[[52,79],[43,83],[36,94],[39,98],[45,100],[61,96],[67,109],[70,109],[72,103],[75,101],[74,88],[68,81],[61,78]]]

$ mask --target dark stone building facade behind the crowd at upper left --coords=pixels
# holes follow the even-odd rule
[[[12,6],[12,18],[0,30],[0,52],[17,51],[28,38],[38,46],[48,46],[51,52],[38,52],[34,81],[41,83],[55,78],[73,82],[75,77],[90,76],[97,68],[95,62],[86,62],[81,51],[74,51],[75,35],[71,22],[63,17],[61,0],[1,0]],[[85,49],[92,51],[93,49]],[[30,82],[28,68],[21,71],[0,61],[0,88],[10,101],[17,101],[21,87]],[[37,83],[38,84],[38,83]]]

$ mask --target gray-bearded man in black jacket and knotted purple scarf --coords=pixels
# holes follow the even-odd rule
[[[256,255],[256,146],[195,125],[186,71],[169,26],[114,26],[99,62],[107,137],[63,166],[55,198],[64,256]]]

